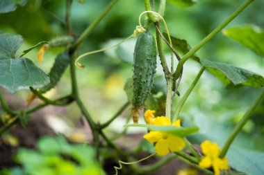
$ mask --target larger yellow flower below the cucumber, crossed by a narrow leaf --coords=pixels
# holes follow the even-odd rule
[[[172,122],[169,118],[166,118],[164,116],[154,118],[152,113],[154,112],[150,110],[146,111],[145,118],[147,120],[147,123],[158,126],[172,125]],[[180,127],[180,120],[176,120],[176,122],[173,123],[173,126]],[[156,142],[156,153],[160,156],[165,156],[166,154],[169,154],[170,151],[180,151],[185,147],[185,141],[183,140],[183,138],[167,132],[150,131],[143,137],[149,142]]]

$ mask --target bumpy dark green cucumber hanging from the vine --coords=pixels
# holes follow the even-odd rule
[[[145,104],[156,73],[156,40],[147,31],[139,35],[135,44],[133,64],[133,108],[139,109]]]

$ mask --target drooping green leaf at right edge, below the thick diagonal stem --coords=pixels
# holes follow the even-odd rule
[[[251,71],[229,64],[212,62],[208,59],[200,59],[200,62],[208,71],[215,75],[215,77],[222,80],[227,87],[238,85],[253,87],[264,86],[264,77]]]

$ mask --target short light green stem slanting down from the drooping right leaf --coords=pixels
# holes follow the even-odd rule
[[[195,88],[195,85],[197,84],[199,78],[201,77],[201,74],[204,73],[204,70],[205,70],[205,67],[203,66],[201,68],[201,70],[199,71],[199,73],[197,74],[197,76],[195,77],[195,80],[190,85],[189,89],[183,95],[183,98],[181,98],[181,101],[179,102],[178,106],[176,107],[176,111],[175,111],[174,117],[172,118],[173,119],[172,121],[175,121],[178,118],[179,113],[181,112],[181,108],[183,107],[183,104],[187,100],[187,98],[190,95],[190,93],[192,92],[192,90]]]

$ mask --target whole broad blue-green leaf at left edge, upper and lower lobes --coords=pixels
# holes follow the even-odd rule
[[[0,34],[0,86],[10,93],[33,86],[41,88],[49,83],[49,77],[28,58],[15,58],[22,44],[20,35]]]

